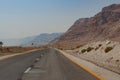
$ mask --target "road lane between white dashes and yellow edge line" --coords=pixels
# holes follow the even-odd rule
[[[33,69],[24,74],[22,80],[99,80],[71,62],[59,51],[46,49]]]

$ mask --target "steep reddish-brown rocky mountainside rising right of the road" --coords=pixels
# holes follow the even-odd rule
[[[64,48],[75,48],[91,41],[105,39],[120,41],[120,4],[104,7],[91,18],[77,20],[57,43],[65,44]]]

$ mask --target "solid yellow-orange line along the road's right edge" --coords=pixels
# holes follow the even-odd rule
[[[96,78],[98,78],[99,80],[105,80],[103,77],[99,76],[98,74],[94,73],[93,71],[89,70],[88,68],[86,68],[85,66],[81,65],[80,63],[74,61],[73,59],[71,59],[70,57],[68,57],[66,55],[66,53],[62,50],[58,50],[57,51],[61,52],[66,58],[68,58],[70,61],[72,61],[74,64],[78,65],[79,67],[83,68],[85,71],[89,72],[90,74],[92,74],[93,76],[95,76]]]

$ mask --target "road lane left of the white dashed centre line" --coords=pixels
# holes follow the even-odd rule
[[[43,51],[35,51],[0,61],[0,80],[20,80],[23,72]]]

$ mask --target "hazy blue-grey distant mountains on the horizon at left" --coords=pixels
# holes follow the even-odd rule
[[[25,37],[20,39],[0,39],[4,46],[40,46],[48,44],[50,41],[61,36],[63,33],[43,33],[37,36]]]

